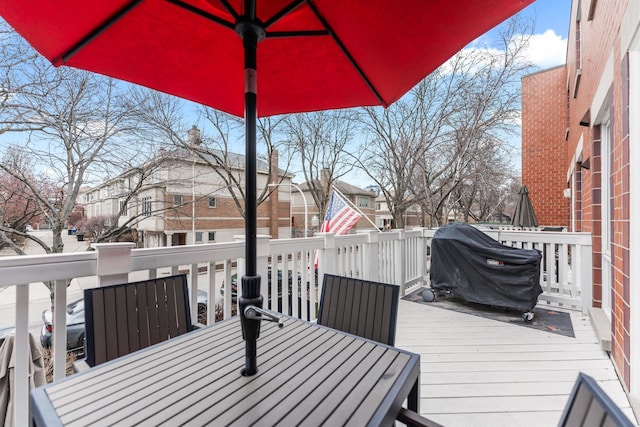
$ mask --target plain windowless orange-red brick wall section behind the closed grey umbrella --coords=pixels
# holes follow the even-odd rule
[[[566,69],[522,79],[522,183],[541,225],[568,226]]]

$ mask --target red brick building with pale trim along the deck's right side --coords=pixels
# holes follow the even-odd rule
[[[592,235],[592,315],[610,324],[611,358],[637,411],[640,1],[573,0],[566,65],[528,76],[522,87],[523,181],[536,213],[563,194],[570,230]],[[538,213],[541,222],[555,215],[562,217]]]

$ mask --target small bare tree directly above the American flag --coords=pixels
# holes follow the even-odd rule
[[[333,183],[353,169],[346,147],[355,137],[357,110],[301,113],[286,118],[291,149],[300,160],[314,204],[322,216]]]

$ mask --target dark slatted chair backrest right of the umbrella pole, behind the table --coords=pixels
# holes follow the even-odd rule
[[[325,274],[318,324],[394,345],[400,287]]]

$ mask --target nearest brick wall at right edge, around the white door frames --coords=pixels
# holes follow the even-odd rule
[[[579,153],[582,159],[590,159],[590,168],[581,170],[581,222],[578,227],[593,236],[593,305],[599,306],[602,298],[603,275],[611,282],[611,357],[627,389],[630,388],[630,298],[629,288],[629,63],[628,54],[620,46],[621,25],[629,0],[573,0],[567,49],[565,90],[571,97],[569,106],[569,139],[566,144],[564,173],[571,168],[571,161]],[[595,5],[593,16],[587,12]],[[580,10],[580,13],[578,11]],[[578,58],[576,33],[580,16],[580,52]],[[609,62],[611,61],[611,62]],[[605,70],[611,64],[613,79],[604,80]],[[609,74],[611,75],[611,74]],[[579,82],[579,84],[577,84]],[[597,99],[598,90],[607,92],[605,99]],[[597,101],[597,102],[596,102]],[[598,105],[600,104],[600,105]],[[523,103],[524,105],[524,103]],[[524,114],[524,109],[523,109]],[[601,124],[608,119],[610,131],[602,132]],[[582,124],[580,122],[583,122]],[[524,119],[523,119],[524,126]],[[604,138],[609,149],[601,148]],[[524,136],[523,136],[524,139]],[[523,149],[524,157],[524,149]],[[610,198],[603,200],[603,164],[609,165]],[[523,161],[524,163],[524,161]],[[523,167],[524,169],[524,167]],[[602,207],[608,202],[610,221],[603,223]],[[609,230],[611,243],[603,247],[602,231]],[[605,269],[603,253],[611,254],[611,269]],[[636,278],[638,280],[638,278]],[[634,307],[636,310],[640,307]],[[637,367],[636,367],[637,369]],[[637,387],[637,386],[636,386]]]

